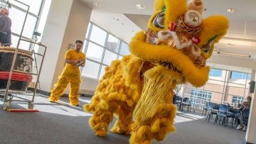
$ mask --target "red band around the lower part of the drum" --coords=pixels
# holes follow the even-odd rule
[[[0,72],[0,79],[9,79],[10,72]],[[23,74],[19,72],[13,72],[11,74],[11,80],[21,81],[21,82],[31,82],[33,77],[31,74]]]

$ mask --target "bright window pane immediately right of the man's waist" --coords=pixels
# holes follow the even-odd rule
[[[100,64],[87,60],[85,67],[82,68],[82,76],[92,77],[94,79],[97,79],[99,70],[100,70]]]

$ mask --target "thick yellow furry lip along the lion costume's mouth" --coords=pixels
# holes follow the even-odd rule
[[[195,87],[201,87],[207,82],[209,67],[198,68],[181,50],[170,48],[168,45],[151,45],[146,43],[145,39],[143,31],[134,36],[129,44],[129,50],[133,55],[155,64],[167,62],[166,66],[172,65],[171,70],[181,73],[186,81]]]

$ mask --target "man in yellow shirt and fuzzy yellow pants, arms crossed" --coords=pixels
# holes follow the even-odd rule
[[[63,95],[65,88],[70,83],[70,94],[68,95],[70,104],[79,106],[78,92],[80,88],[80,67],[85,66],[85,54],[81,52],[82,41],[76,40],[75,48],[68,50],[65,53],[65,67],[63,72],[58,77],[57,84],[54,85],[51,91],[49,101],[57,102],[60,96]]]

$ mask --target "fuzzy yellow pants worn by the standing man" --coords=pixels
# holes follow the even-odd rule
[[[56,102],[60,99],[60,96],[63,95],[65,88],[68,83],[70,83],[70,93],[68,95],[70,104],[78,105],[78,93],[80,88],[80,70],[79,69],[68,69],[64,68],[60,77],[58,77],[57,84],[54,85],[53,90],[51,91],[49,100]]]

